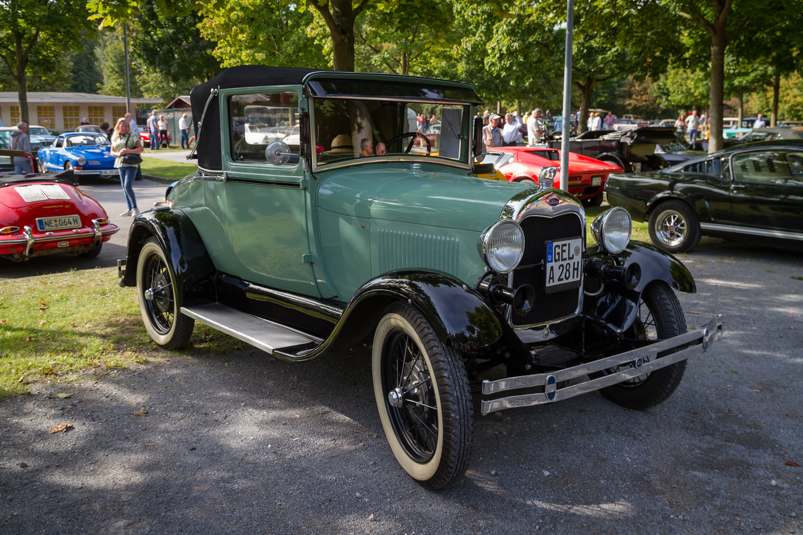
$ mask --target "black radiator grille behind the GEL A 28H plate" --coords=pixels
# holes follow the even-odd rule
[[[557,217],[528,216],[520,222],[524,230],[524,257],[519,265],[534,265],[546,260],[546,242],[583,236],[583,226],[576,213]],[[513,270],[511,286],[528,284],[536,290],[536,303],[527,315],[511,314],[513,326],[537,325],[565,318],[577,310],[582,288],[554,294],[544,292],[544,270],[540,265]]]

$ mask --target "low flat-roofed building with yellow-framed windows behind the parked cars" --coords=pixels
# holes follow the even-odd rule
[[[130,111],[136,116],[137,104],[161,107],[161,102],[162,99],[132,98]],[[28,122],[39,124],[51,132],[74,130],[84,117],[88,118],[89,124],[100,124],[104,121],[113,124],[125,112],[124,96],[56,91],[28,93]],[[16,91],[0,91],[0,121],[4,126],[14,126],[20,121]]]

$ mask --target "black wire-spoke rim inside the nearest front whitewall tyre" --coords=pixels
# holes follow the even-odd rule
[[[382,366],[383,387],[388,391],[393,431],[403,439],[402,445],[411,458],[426,463],[438,446],[438,401],[432,371],[404,330],[393,330],[386,343],[383,355],[388,362]]]

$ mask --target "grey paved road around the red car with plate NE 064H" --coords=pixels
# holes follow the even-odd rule
[[[120,227],[120,231],[114,234],[111,240],[104,243],[103,250],[95,258],[81,258],[76,254],[60,253],[47,257],[34,257],[25,262],[0,260],[0,279],[31,277],[31,275],[69,270],[93,270],[96,267],[117,265],[117,259],[125,257],[131,217],[120,217],[120,213],[123,213],[126,208],[120,183],[115,180],[84,177],[81,179],[79,187],[100,202],[112,223]],[[165,188],[167,188],[166,184],[153,180],[134,182],[134,196],[137,197],[139,208],[141,210],[149,209],[154,202],[163,201]]]

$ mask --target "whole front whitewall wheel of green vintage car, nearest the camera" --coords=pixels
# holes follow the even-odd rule
[[[460,355],[397,302],[373,337],[373,391],[396,460],[425,488],[444,488],[471,457],[471,389]]]

